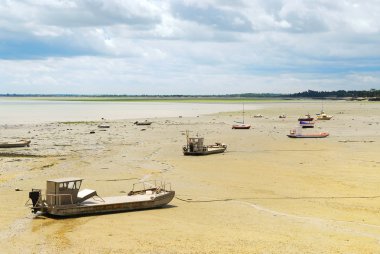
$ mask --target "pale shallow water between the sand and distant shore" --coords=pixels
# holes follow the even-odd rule
[[[259,107],[257,104],[245,104],[246,110]],[[102,118],[143,120],[155,117],[195,117],[239,110],[242,110],[241,103],[78,102],[0,98],[0,125],[98,121]]]

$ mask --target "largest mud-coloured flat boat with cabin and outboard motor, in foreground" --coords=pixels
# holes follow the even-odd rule
[[[45,197],[42,196],[41,189],[32,189],[29,192],[32,212],[58,217],[126,212],[162,207],[175,195],[170,184],[155,181],[138,183],[141,187],[138,190],[135,190],[137,184],[134,184],[132,191],[124,196],[102,198],[95,190],[79,190],[82,180],[82,178],[48,180]]]

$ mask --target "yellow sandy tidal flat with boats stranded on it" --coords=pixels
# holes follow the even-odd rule
[[[380,104],[328,101],[324,139],[290,139],[297,118],[321,102],[262,103],[199,117],[1,125],[0,253],[380,253]],[[262,114],[262,118],[254,118]],[[280,114],[287,118],[279,119]],[[224,154],[183,156],[185,131]],[[90,134],[95,131],[95,134]],[[176,198],[154,210],[68,219],[24,206],[46,180],[77,176],[100,196],[144,179],[172,184]],[[16,191],[18,189],[19,191]]]

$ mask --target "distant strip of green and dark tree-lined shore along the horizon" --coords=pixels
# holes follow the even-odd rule
[[[238,93],[238,94],[0,94],[0,98],[30,98],[33,100],[53,101],[164,101],[164,102],[263,102],[263,101],[297,101],[297,100],[345,100],[345,101],[380,101],[380,90],[368,91],[313,91],[300,93]]]

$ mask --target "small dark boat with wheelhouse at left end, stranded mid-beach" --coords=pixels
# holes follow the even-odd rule
[[[189,138],[188,131],[186,132],[187,144],[182,147],[184,155],[208,155],[215,153],[224,153],[227,145],[223,143],[215,143],[213,145],[204,145],[204,138]]]

